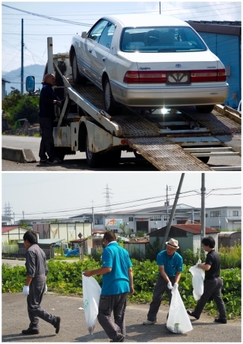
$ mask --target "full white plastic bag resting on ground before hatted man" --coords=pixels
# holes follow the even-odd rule
[[[188,331],[192,331],[192,324],[185,310],[183,300],[181,300],[178,288],[172,289],[171,294],[167,329],[174,334],[185,334]]]

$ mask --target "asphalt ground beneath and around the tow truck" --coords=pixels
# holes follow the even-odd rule
[[[2,171],[158,171],[144,158],[135,158],[133,152],[121,151],[121,160],[117,167],[102,167],[92,169],[87,165],[85,153],[76,152],[74,156],[65,156],[65,160],[60,165],[40,164],[39,148],[40,138],[33,136],[2,136],[3,147],[14,147],[31,149],[37,163],[15,163],[13,161],[2,160]],[[221,156],[210,157],[208,162],[210,167],[215,166],[241,166],[240,156]]]

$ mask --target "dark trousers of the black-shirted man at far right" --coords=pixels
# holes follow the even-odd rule
[[[196,304],[196,308],[194,310],[195,316],[200,317],[201,312],[203,311],[206,302],[209,300],[210,296],[212,295],[213,300],[217,305],[217,309],[219,310],[219,318],[225,319],[226,318],[226,309],[224,306],[224,301],[221,298],[221,288],[223,286],[223,281],[220,277],[215,277],[214,279],[205,279],[204,281],[204,290],[203,295],[201,295],[200,300]]]

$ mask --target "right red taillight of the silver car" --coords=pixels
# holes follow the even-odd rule
[[[192,83],[207,83],[212,81],[226,81],[225,69],[191,71]]]

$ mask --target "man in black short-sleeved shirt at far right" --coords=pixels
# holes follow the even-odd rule
[[[219,277],[220,261],[219,254],[217,254],[214,249],[215,239],[212,238],[212,236],[208,236],[203,238],[202,244],[203,249],[208,252],[206,262],[197,264],[198,268],[205,270],[203,295],[201,295],[200,300],[197,302],[195,310],[187,311],[187,313],[190,316],[199,319],[206,302],[208,302],[210,297],[212,297],[217,304],[217,309],[219,310],[219,318],[215,318],[215,321],[226,324],[226,309],[224,301],[221,298],[221,287],[223,286],[223,281]]]

